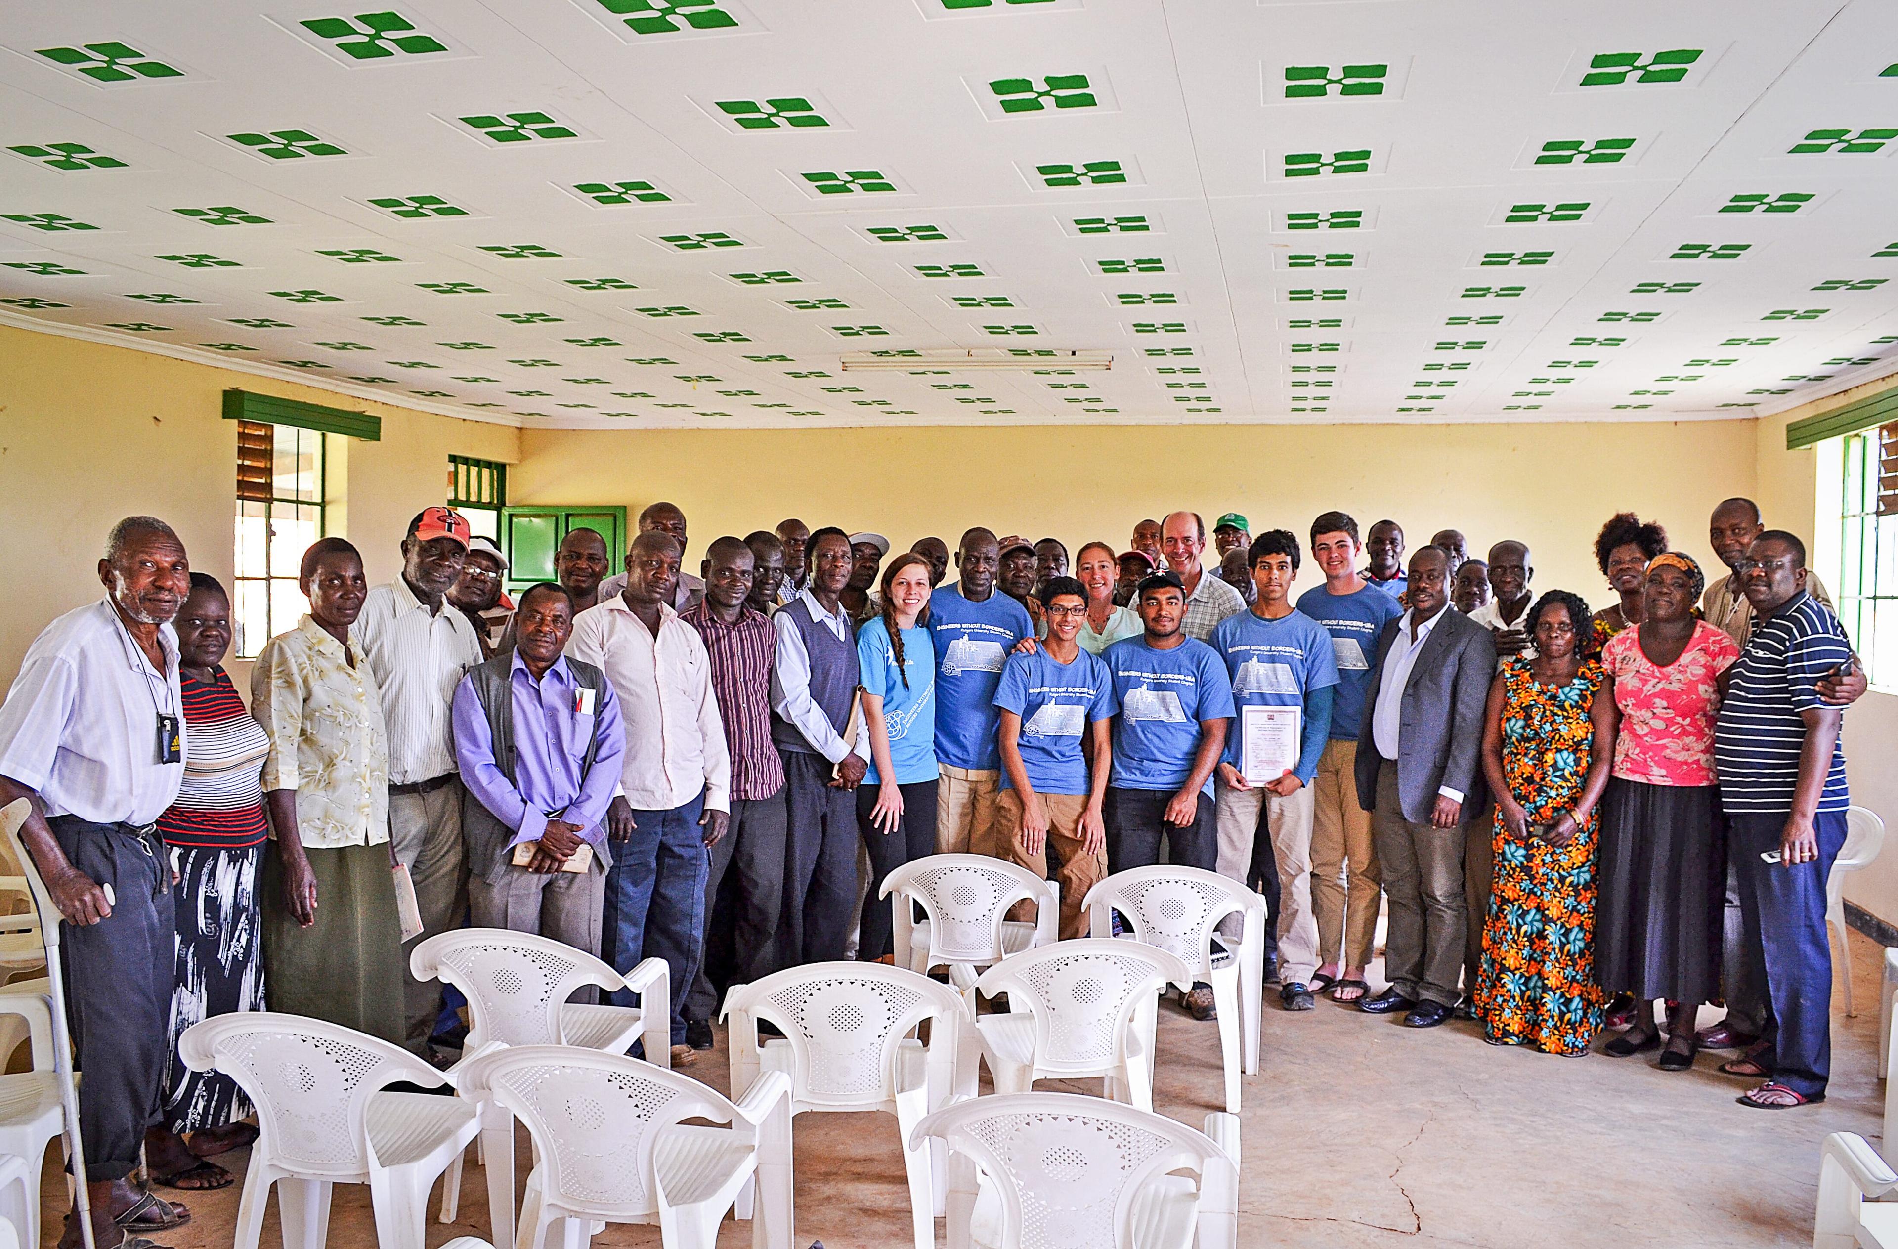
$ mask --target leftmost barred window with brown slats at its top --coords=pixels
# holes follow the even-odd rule
[[[323,537],[323,435],[237,421],[237,558],[232,615],[239,659],[256,659],[309,609],[296,587],[309,543]]]

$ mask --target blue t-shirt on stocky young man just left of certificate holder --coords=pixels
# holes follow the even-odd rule
[[[1219,653],[1198,638],[1156,651],[1127,638],[1101,655],[1114,681],[1116,790],[1179,790],[1200,752],[1200,721],[1232,718],[1232,681]],[[1205,780],[1207,793],[1213,778]]]

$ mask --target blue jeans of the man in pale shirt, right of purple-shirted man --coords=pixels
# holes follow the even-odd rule
[[[664,959],[672,972],[672,1044],[685,1044],[685,995],[698,976],[706,940],[706,854],[698,812],[704,793],[672,811],[634,811],[628,841],[615,841],[605,873],[605,915],[600,957],[621,976],[642,959]],[[632,1006],[634,995],[607,997]]]

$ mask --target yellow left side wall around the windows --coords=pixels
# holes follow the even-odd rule
[[[99,549],[120,516],[167,520],[194,568],[232,575],[237,423],[222,416],[228,387],[381,418],[381,442],[349,442],[342,482],[345,535],[363,547],[372,581],[399,571],[408,518],[442,501],[450,454],[505,461],[520,454],[518,431],[507,425],[0,326],[6,680],[46,621],[102,594]]]

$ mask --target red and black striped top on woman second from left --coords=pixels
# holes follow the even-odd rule
[[[158,816],[165,845],[241,850],[268,835],[264,824],[264,757],[270,736],[251,719],[224,668],[199,681],[184,672],[184,784],[178,801]]]

